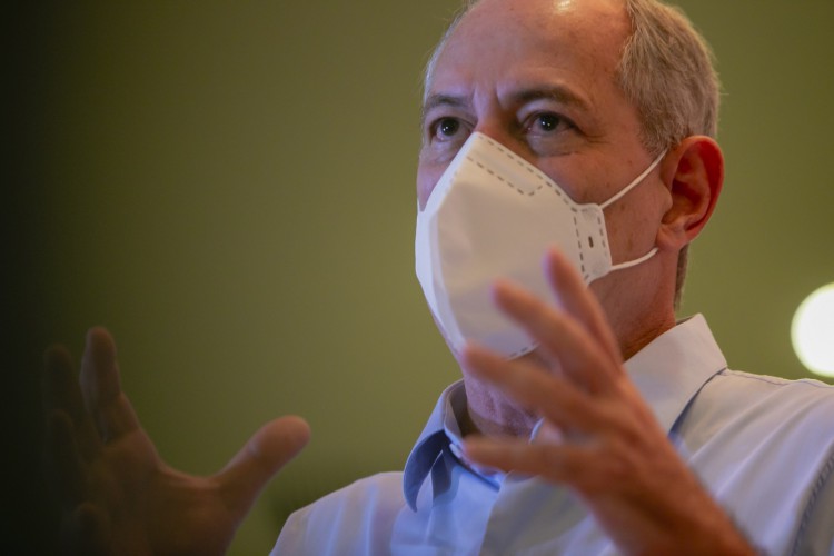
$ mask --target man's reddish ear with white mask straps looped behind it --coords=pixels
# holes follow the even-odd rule
[[[679,250],[697,237],[718,201],[724,183],[724,156],[709,137],[693,136],[671,150],[663,180],[672,206],[657,231],[657,246]]]

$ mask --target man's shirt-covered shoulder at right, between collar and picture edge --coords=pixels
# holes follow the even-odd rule
[[[692,467],[761,546],[791,554],[823,530],[818,519],[831,533],[834,387],[724,370],[676,428]]]

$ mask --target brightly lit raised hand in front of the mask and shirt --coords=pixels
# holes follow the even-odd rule
[[[546,270],[558,307],[506,281],[495,288],[545,365],[478,346],[464,364],[543,417],[557,439],[468,437],[467,456],[569,487],[625,554],[754,554],[628,378],[594,295],[560,254],[548,254]]]

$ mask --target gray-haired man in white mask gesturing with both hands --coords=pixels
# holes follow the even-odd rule
[[[404,473],[298,512],[275,552],[834,554],[834,391],[729,371],[702,318],[675,322],[722,186],[716,118],[705,47],[653,0],[475,2],[429,64],[417,178],[418,275],[464,380]],[[546,203],[569,218],[534,218]],[[524,255],[552,225],[570,241],[543,287]],[[139,427],[106,331],[83,398],[64,351],[48,367],[81,550],[222,552],[307,438],[279,419],[188,477]]]

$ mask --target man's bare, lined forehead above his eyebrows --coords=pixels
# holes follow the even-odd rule
[[[613,88],[628,32],[622,0],[481,0],[443,46],[427,88],[543,79]]]

